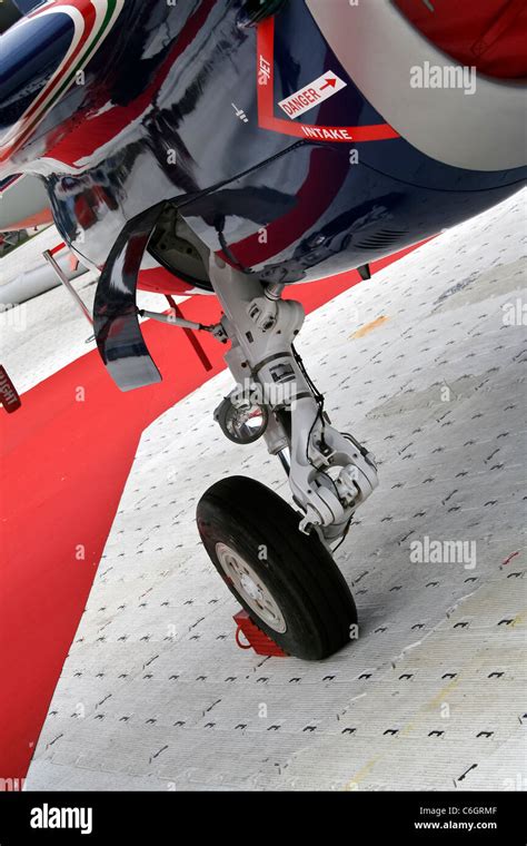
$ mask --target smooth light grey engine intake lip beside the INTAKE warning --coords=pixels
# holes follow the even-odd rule
[[[465,75],[391,3],[306,0],[330,49],[371,106],[420,153],[450,167],[504,171],[525,167],[527,87]],[[415,71],[464,85],[414,85]]]

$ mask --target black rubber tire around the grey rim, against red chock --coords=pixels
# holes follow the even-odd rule
[[[274,491],[246,476],[213,484],[197,508],[210,560],[253,622],[290,656],[321,660],[350,642],[357,609],[349,588],[318,535],[298,530],[300,517]],[[216,547],[241,555],[271,592],[287,623],[278,633],[258,617],[225,573]],[[260,560],[261,547],[267,559]]]

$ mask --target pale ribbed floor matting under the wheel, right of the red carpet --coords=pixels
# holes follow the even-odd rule
[[[145,432],[29,789],[525,787],[525,232],[518,195],[307,319],[334,423],[380,462],[337,553],[360,639],[334,658],[235,643],[196,502],[233,473],[288,486],[215,427],[229,374]],[[415,562],[427,538],[469,554]]]

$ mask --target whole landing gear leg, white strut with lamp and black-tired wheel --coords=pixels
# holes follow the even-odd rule
[[[223,307],[221,327],[231,341],[226,361],[237,385],[216,419],[232,441],[265,437],[288,471],[299,512],[259,482],[235,476],[203,494],[198,529],[257,626],[289,655],[326,658],[356,637],[355,602],[331,544],[344,540],[377,486],[376,464],[352,435],[331,426],[294,347],[301,304],[216,255],[210,281]]]

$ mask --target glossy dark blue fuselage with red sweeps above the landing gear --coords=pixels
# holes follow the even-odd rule
[[[265,128],[257,28],[242,26],[243,6],[127,0],[83,83],[11,157],[13,173],[34,169],[46,180],[59,230],[88,264],[103,267],[131,220],[170,201],[211,250],[264,279],[307,282],[434,235],[525,180],[525,168],[444,165],[400,137],[331,142]],[[60,60],[60,39],[56,50]],[[280,100],[332,71],[346,88],[302,119],[385,122],[304,0],[289,0],[276,16],[274,71],[276,117],[288,119]],[[4,99],[1,92],[0,114]]]

